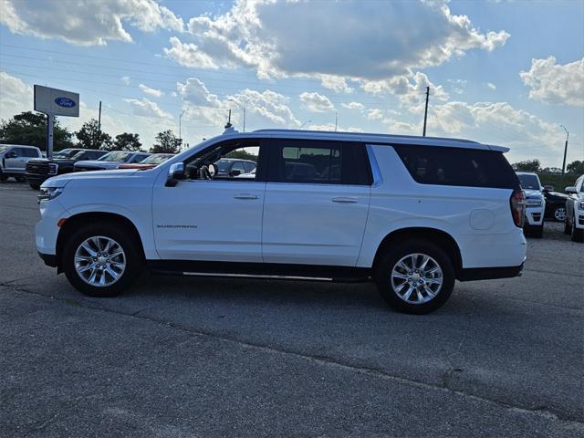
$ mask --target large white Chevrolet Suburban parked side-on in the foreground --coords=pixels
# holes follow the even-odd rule
[[[525,193],[505,151],[428,137],[232,131],[152,170],[47,180],[36,247],[90,296],[119,294],[147,266],[373,280],[391,307],[427,313],[455,279],[522,270]],[[257,162],[254,178],[218,175],[214,162],[242,154]]]

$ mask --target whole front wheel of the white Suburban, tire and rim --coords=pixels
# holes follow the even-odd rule
[[[69,236],[63,270],[79,292],[115,297],[140,275],[141,258],[139,243],[123,225],[88,224]]]

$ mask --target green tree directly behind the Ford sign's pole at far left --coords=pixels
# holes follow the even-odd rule
[[[57,119],[53,127],[53,149],[73,146],[72,134],[63,128]],[[0,143],[26,144],[45,151],[47,146],[47,116],[40,112],[26,111],[16,114],[10,120],[0,121]]]

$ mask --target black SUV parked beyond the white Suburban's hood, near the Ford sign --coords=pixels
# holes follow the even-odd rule
[[[26,163],[26,183],[38,190],[40,184],[51,176],[73,172],[73,164],[80,160],[97,160],[108,151],[96,149],[64,149],[55,152],[52,160],[46,158],[30,160]]]

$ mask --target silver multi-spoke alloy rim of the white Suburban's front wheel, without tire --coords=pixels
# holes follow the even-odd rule
[[[118,242],[104,235],[89,237],[75,252],[75,270],[90,286],[107,287],[126,269],[126,254]]]

